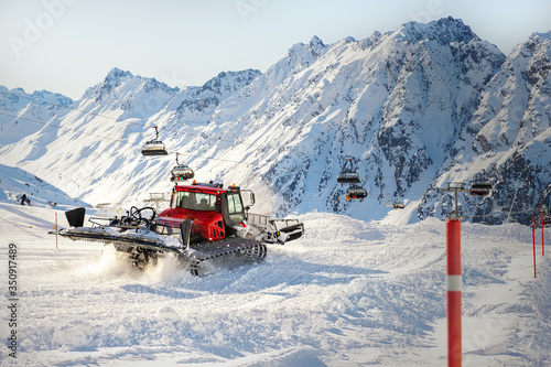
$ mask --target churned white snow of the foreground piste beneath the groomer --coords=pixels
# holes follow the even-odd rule
[[[445,224],[309,213],[263,262],[198,278],[140,271],[47,235],[63,211],[0,203],[0,366],[443,366]],[[462,225],[463,365],[551,364],[551,248],[527,226]],[[545,241],[551,242],[550,229]],[[17,245],[17,326],[8,304]],[[8,335],[17,331],[17,358]]]

